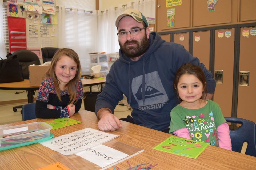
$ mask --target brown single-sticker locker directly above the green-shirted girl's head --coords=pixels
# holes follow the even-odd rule
[[[193,32],[193,56],[210,70],[210,30]]]

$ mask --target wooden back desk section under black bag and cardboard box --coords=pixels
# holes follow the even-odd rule
[[[33,102],[34,90],[38,90],[39,86],[30,87],[29,80],[25,79],[22,82],[0,83],[1,90],[26,90],[27,103]]]

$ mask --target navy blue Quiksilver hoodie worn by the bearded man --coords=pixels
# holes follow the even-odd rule
[[[150,33],[149,43],[138,61],[119,50],[120,58],[111,66],[103,91],[97,96],[95,113],[103,107],[114,113],[124,94],[133,108],[135,124],[162,131],[170,125],[171,109],[178,104],[173,80],[182,64],[190,62],[202,68],[208,93],[214,93],[216,82],[211,72],[182,45],[162,40],[157,32]]]

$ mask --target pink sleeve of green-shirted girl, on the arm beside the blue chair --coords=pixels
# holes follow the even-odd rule
[[[232,151],[231,139],[229,136],[229,125],[223,123],[217,128],[218,138],[219,138],[219,147]]]

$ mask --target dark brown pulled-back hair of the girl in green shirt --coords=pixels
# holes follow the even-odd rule
[[[179,67],[179,69],[176,71],[176,74],[173,80],[173,87],[175,89],[175,93],[178,96],[178,99],[180,102],[182,101],[182,99],[179,97],[177,86],[178,86],[179,78],[184,74],[191,74],[197,77],[200,80],[200,82],[203,84],[203,90],[204,90],[203,93],[207,93],[206,79],[201,67],[193,65],[191,63],[185,63],[181,67]]]

